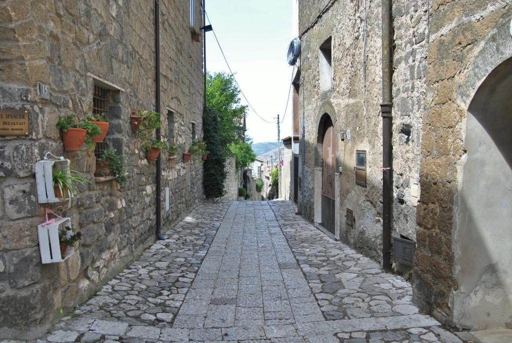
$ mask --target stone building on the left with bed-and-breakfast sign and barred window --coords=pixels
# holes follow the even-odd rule
[[[37,335],[154,241],[159,226],[202,201],[202,165],[181,158],[202,137],[203,46],[194,36],[201,18],[194,0],[0,4],[0,338]],[[160,111],[162,139],[179,149],[175,159],[146,160],[130,125],[138,110]],[[123,155],[130,177],[122,189],[112,177],[93,176],[93,151],[63,150],[58,118],[93,111],[110,118],[103,148]],[[19,113],[24,129],[13,132],[5,119]],[[92,181],[69,208],[38,201],[34,165],[48,152]],[[61,263],[41,264],[45,208],[82,234]]]

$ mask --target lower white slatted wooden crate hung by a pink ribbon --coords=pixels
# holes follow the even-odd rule
[[[62,262],[68,259],[75,252],[74,247],[66,249],[66,257],[60,256],[59,230],[62,228],[71,228],[71,219],[64,217],[56,219],[53,224],[37,226],[37,235],[39,236],[39,250],[41,252],[41,263]],[[67,230],[66,236],[70,237],[72,230]]]

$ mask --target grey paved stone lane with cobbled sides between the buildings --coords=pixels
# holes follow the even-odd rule
[[[294,212],[199,206],[36,342],[462,343],[407,281]]]

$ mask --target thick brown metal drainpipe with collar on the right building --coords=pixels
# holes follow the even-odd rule
[[[382,0],[382,268],[391,270],[391,201],[393,196],[393,39],[392,0]]]

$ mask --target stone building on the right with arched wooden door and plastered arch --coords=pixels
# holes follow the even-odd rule
[[[510,327],[512,4],[304,0],[297,8],[303,215],[385,268],[393,253],[414,300],[446,324]]]

